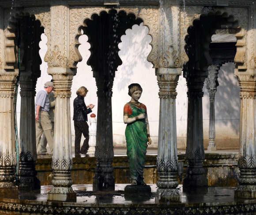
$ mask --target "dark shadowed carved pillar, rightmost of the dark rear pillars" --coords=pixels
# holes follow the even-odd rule
[[[203,81],[204,77],[196,77],[188,82],[188,127],[186,159],[188,161],[184,187],[207,186],[206,170],[203,168]]]

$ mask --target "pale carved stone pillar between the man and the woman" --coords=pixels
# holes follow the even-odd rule
[[[53,146],[53,189],[48,193],[48,200],[75,201],[73,191],[72,169],[72,141],[70,119],[70,97],[73,72],[68,68],[48,68],[53,76],[55,100],[55,126]]]

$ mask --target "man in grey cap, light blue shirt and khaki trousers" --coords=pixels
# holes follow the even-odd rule
[[[40,139],[42,133],[45,133],[47,143],[49,144],[49,154],[53,154],[53,126],[49,115],[50,101],[48,96],[52,91],[53,82],[46,82],[44,89],[40,90],[36,96],[36,144],[38,155],[41,154]]]

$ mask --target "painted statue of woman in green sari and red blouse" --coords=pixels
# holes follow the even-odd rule
[[[143,168],[147,152],[147,143],[152,143],[149,134],[147,107],[139,102],[142,88],[133,83],[128,86],[128,95],[132,99],[124,105],[124,123],[127,124],[125,137],[127,156],[130,166],[132,185],[146,185],[143,181]]]

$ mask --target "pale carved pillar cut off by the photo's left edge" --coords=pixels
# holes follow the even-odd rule
[[[0,74],[0,188],[17,188],[13,99],[16,78],[12,72]]]

